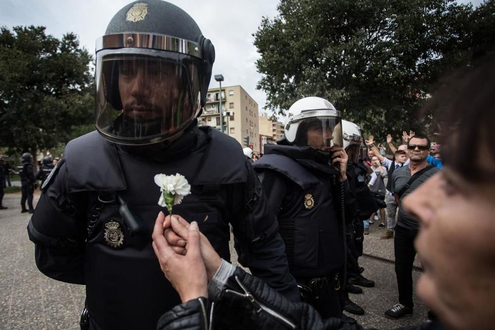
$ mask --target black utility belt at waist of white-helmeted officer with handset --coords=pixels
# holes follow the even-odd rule
[[[330,286],[334,290],[341,289],[339,272],[327,277],[297,278],[297,288],[301,301],[310,303],[320,299]]]

